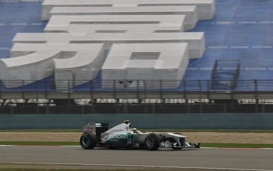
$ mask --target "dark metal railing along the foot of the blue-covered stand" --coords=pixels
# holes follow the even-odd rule
[[[273,80],[12,80],[0,81],[0,92],[35,91],[273,91]],[[61,88],[56,84],[61,82]],[[78,83],[82,83],[78,85]],[[60,84],[59,84],[60,85]],[[76,86],[73,86],[76,85]]]

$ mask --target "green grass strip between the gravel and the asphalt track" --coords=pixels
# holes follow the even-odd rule
[[[79,142],[0,141],[0,145],[79,146]],[[273,144],[200,143],[201,147],[273,148]]]

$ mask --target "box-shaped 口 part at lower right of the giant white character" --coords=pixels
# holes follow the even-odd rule
[[[188,62],[187,43],[120,43],[112,46],[101,68],[101,75],[102,80],[117,80],[117,87],[140,86],[120,81],[180,80]],[[144,81],[142,86],[156,88],[160,85],[158,82]],[[175,88],[178,85],[164,83],[164,87],[169,86]]]

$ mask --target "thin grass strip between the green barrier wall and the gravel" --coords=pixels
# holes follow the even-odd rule
[[[273,129],[140,129],[152,132],[253,132],[273,133]],[[82,129],[0,129],[0,132],[82,132]]]

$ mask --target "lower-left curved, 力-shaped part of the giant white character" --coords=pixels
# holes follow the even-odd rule
[[[83,80],[95,78],[104,59],[102,43],[16,43],[10,56],[0,59],[0,79],[9,88],[27,85],[53,74],[59,80],[57,88],[73,87],[84,83]],[[24,82],[18,85],[12,80]],[[82,81],[73,82],[75,80]]]

